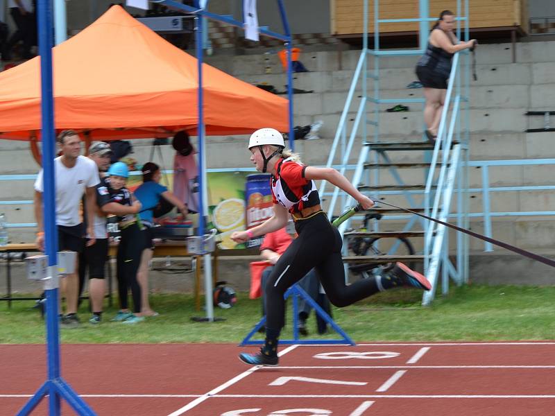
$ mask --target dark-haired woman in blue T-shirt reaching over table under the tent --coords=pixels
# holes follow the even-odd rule
[[[160,166],[153,162],[144,164],[142,168],[143,183],[135,190],[135,197],[142,204],[142,211],[139,217],[144,225],[145,248],[141,256],[141,264],[137,272],[137,281],[141,286],[142,301],[141,313],[143,316],[155,316],[157,313],[151,309],[148,303],[148,262],[152,259],[154,243],[152,236],[152,227],[154,225],[155,209],[162,203],[169,203],[178,207],[184,218],[187,216],[187,205],[179,200],[173,193],[168,191],[167,187],[162,186],[160,178],[162,172]]]

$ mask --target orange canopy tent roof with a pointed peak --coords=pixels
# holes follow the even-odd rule
[[[87,139],[196,134],[197,60],[112,6],[53,48],[56,129]],[[203,64],[207,135],[288,130],[288,101]],[[0,73],[0,139],[40,138],[40,57]]]

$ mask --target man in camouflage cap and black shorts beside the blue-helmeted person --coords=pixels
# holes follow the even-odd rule
[[[99,324],[102,319],[103,298],[105,293],[104,272],[108,259],[108,232],[106,229],[106,214],[126,215],[136,214],[141,209],[141,202],[136,201],[133,206],[125,206],[117,202],[110,202],[108,193],[108,180],[106,171],[110,167],[110,146],[103,141],[93,141],[89,146],[89,159],[96,164],[99,170],[100,183],[96,185],[96,210],[94,212],[93,231],[96,243],[85,247],[80,257],[79,278],[81,286],[85,280],[86,270],[89,270],[89,297],[91,302],[92,317],[89,322]]]

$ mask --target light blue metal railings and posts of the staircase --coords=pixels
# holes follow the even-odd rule
[[[464,1],[465,8],[464,12],[462,12],[461,8],[461,1]],[[376,170],[372,174],[366,173],[366,178],[363,177],[365,173],[365,164],[368,160],[371,160],[375,164],[379,162],[379,159],[384,159],[384,162],[391,163],[391,160],[388,158],[385,152],[372,152],[371,146],[365,145],[367,142],[368,126],[372,126],[373,128],[373,136],[374,141],[380,141],[380,104],[386,103],[422,103],[422,107],[425,103],[423,98],[382,98],[380,96],[380,72],[379,72],[379,65],[380,65],[380,58],[382,57],[402,57],[402,56],[419,56],[424,53],[428,33],[429,33],[429,22],[436,21],[436,18],[429,17],[429,0],[420,0],[419,1],[419,18],[418,19],[379,19],[379,0],[374,0],[374,49],[368,49],[368,0],[364,0],[364,12],[363,12],[363,23],[364,23],[364,33],[363,33],[363,46],[361,50],[361,55],[359,58],[359,62],[355,69],[355,74],[352,79],[351,87],[348,93],[348,98],[345,103],[345,107],[343,108],[343,112],[341,114],[341,119],[339,121],[338,128],[336,130],[336,135],[334,137],[334,141],[332,144],[332,149],[330,151],[330,156],[327,159],[327,166],[332,166],[334,159],[336,157],[336,153],[341,146],[341,162],[343,165],[346,165],[348,159],[350,157],[350,150],[355,144],[355,139],[357,135],[360,134],[362,138],[363,146],[360,150],[357,166],[355,168],[355,173],[352,175],[352,183],[353,184],[360,184],[360,183],[369,183],[373,184],[373,186],[378,185],[379,180],[379,170]],[[465,30],[464,30],[464,38],[468,40],[468,0],[457,0],[456,6],[456,15],[457,17],[457,35],[461,38],[461,22],[465,23]],[[463,15],[463,17],[461,17]],[[395,22],[419,22],[420,24],[420,36],[419,36],[419,46],[417,49],[407,49],[407,50],[387,50],[383,51],[380,50],[379,44],[379,26],[380,24],[388,24],[388,23],[395,23]],[[373,57],[373,71],[369,73],[368,70],[368,55]],[[461,76],[461,71],[459,69],[460,65],[460,58],[459,55],[466,56],[466,67],[464,68],[465,73],[464,76]],[[445,106],[443,109],[443,113],[441,116],[441,123],[438,130],[438,138],[436,140],[436,146],[434,148],[433,153],[430,155],[427,152],[425,157],[429,159],[431,162],[430,167],[427,169],[427,173],[425,173],[426,179],[426,187],[424,193],[420,192],[411,192],[411,191],[402,191],[402,195],[406,198],[407,203],[410,207],[418,207],[416,204],[415,199],[413,196],[420,195],[422,196],[422,207],[425,209],[425,212],[429,215],[430,210],[432,209],[432,216],[441,213],[441,216],[445,216],[448,218],[450,216],[450,196],[452,194],[452,190],[454,189],[454,178],[456,177],[459,180],[459,204],[456,206],[457,212],[457,223],[459,226],[468,226],[468,205],[466,202],[466,198],[463,198],[463,193],[466,193],[465,189],[468,187],[468,178],[466,178],[466,168],[461,168],[461,166],[467,166],[464,162],[459,160],[460,158],[463,161],[468,162],[468,144],[469,144],[469,121],[468,121],[468,111],[465,112],[466,115],[466,124],[464,128],[461,127],[461,103],[467,103],[466,109],[468,110],[468,84],[470,80],[470,71],[468,69],[469,62],[468,62],[468,51],[462,53],[456,53],[454,62],[452,65],[452,73],[450,76],[450,83],[449,89],[447,90],[447,97],[445,101]],[[367,78],[373,79],[373,87],[374,87],[374,94],[373,96],[368,96],[368,82]],[[461,84],[465,85],[465,89],[463,90],[463,94],[461,94]],[[353,97],[355,96],[355,91],[357,86],[361,85],[362,94],[360,97],[360,101],[358,103],[358,107],[353,105]],[[367,119],[367,106],[368,104],[373,104],[373,118]],[[452,104],[452,108],[451,108]],[[354,112],[356,110],[357,115],[355,116],[355,120],[352,123],[350,128],[350,132],[348,132],[348,114],[350,112]],[[450,114],[450,117],[447,118],[447,114]],[[424,130],[424,129],[422,129]],[[461,135],[462,131],[462,135]],[[461,143],[461,148],[456,148],[454,146],[453,149],[450,148],[452,143],[452,137],[456,135],[456,138]],[[360,137],[359,136],[359,137]],[[347,140],[348,137],[348,140]],[[422,135],[424,137],[424,135]],[[441,147],[443,146],[443,147]],[[441,160],[438,160],[439,150],[440,148],[447,149],[443,150]],[[456,155],[456,160],[453,160],[453,155]],[[339,164],[341,164],[341,162]],[[448,164],[451,162],[451,164]],[[455,162],[455,163],[453,163]],[[440,173],[436,175],[436,164],[440,166]],[[447,171],[447,166],[451,166],[449,171]],[[345,172],[346,167],[341,168],[341,173]],[[395,167],[390,168],[391,175],[395,179],[398,185],[404,185],[401,176],[398,174],[397,169]],[[325,187],[326,183],[323,182],[320,187],[320,193],[322,196],[325,196]],[[435,191],[432,191],[435,189]],[[373,193],[372,197],[374,200],[379,201],[379,197],[381,195],[386,194],[387,192],[384,191],[376,191]],[[336,203],[341,195],[343,206],[340,208],[348,206],[351,202],[350,196],[343,193],[339,189],[334,189],[332,192],[332,198],[330,201],[330,205],[327,209],[328,216],[331,218],[334,215],[334,211],[336,211]],[[447,200],[447,196],[449,196],[449,200]],[[432,202],[433,201],[433,202]],[[379,205],[379,202],[378,202]],[[353,219],[356,217],[353,217]],[[396,219],[400,219],[400,217],[395,217]],[[410,217],[409,217],[410,218]],[[434,224],[431,225],[427,223],[425,220],[421,218],[410,218],[407,225],[405,225],[403,231],[409,231],[411,227],[416,222],[420,222],[422,227],[424,227],[426,231],[425,236],[425,273],[427,277],[432,281],[434,285],[434,289],[436,287],[436,273],[438,270],[439,261],[445,266],[443,267],[443,272],[445,273],[446,270],[449,272],[451,277],[460,284],[462,281],[466,281],[468,279],[468,238],[465,236],[458,236],[459,245],[457,248],[457,268],[454,268],[448,257],[448,247],[443,239],[443,229],[442,228],[435,228]],[[339,231],[341,234],[345,231],[345,229],[349,226],[349,222],[345,221],[340,227]],[[379,231],[377,229],[377,224],[375,225],[375,231]],[[441,250],[432,250],[430,247],[432,245],[432,236],[434,236],[434,247],[438,245],[436,241],[441,240]],[[438,237],[439,236],[439,237]],[[395,249],[395,247],[393,248]],[[432,261],[433,260],[433,261]],[[433,268],[429,268],[429,263],[432,262]],[[445,275],[446,276],[446,275]],[[447,282],[447,279],[443,280],[444,284]],[[445,291],[445,285],[443,290]],[[430,291],[425,294],[422,298],[422,304],[429,304],[433,300],[434,291]]]

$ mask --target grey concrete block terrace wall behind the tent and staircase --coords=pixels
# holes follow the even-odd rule
[[[470,159],[521,159],[555,157],[555,146],[552,146],[553,133],[524,133],[526,128],[543,125],[543,119],[527,119],[527,110],[555,110],[550,107],[555,98],[555,79],[552,77],[552,67],[555,62],[554,42],[530,42],[516,44],[517,62],[512,62],[510,44],[479,45],[477,57],[478,80],[470,82],[470,125],[471,144]],[[214,67],[231,73],[249,83],[268,83],[276,89],[284,91],[287,77],[275,54],[269,55],[272,73],[266,73],[266,59],[264,53],[230,56],[213,55],[206,60]],[[321,139],[314,141],[297,141],[296,151],[302,154],[307,164],[325,164],[328,150],[332,144],[336,126],[339,123],[341,111],[348,94],[353,71],[359,59],[359,51],[316,51],[302,53],[300,60],[310,70],[307,73],[295,73],[294,86],[296,88],[312,90],[311,94],[296,94],[294,96],[294,121],[296,125],[307,125],[316,120],[324,121],[321,128]],[[406,85],[416,80],[413,73],[416,57],[380,58],[381,96],[382,98],[420,97],[422,89],[407,89]],[[368,68],[373,68],[370,57]],[[368,90],[371,92],[373,83],[369,79]],[[357,88],[360,92],[360,86]],[[357,94],[358,95],[358,94]],[[348,114],[348,122],[355,119],[356,103]],[[411,104],[409,112],[384,112],[388,105],[380,105],[381,138],[387,140],[415,140],[422,137],[422,105]],[[373,116],[373,105],[368,105],[369,117]],[[369,135],[373,133],[368,129]],[[230,168],[250,166],[244,146],[247,137],[210,137],[207,140],[207,166],[209,168]],[[370,136],[371,139],[371,136]],[[139,164],[151,159],[151,141],[133,141],[135,153],[133,157]],[[348,163],[355,164],[360,144]],[[153,160],[171,168],[173,149],[171,146],[161,146],[162,159],[157,152]],[[0,174],[35,174],[38,166],[31,157],[28,144],[17,141],[0,141]],[[422,160],[422,153],[397,152],[395,157],[399,162],[417,162]],[[339,162],[339,161],[338,161]],[[549,166],[526,166],[514,168],[490,169],[490,184],[492,186],[510,186],[520,184],[550,184]],[[409,184],[417,184],[422,180],[417,171],[400,171],[402,177]],[[479,187],[481,172],[477,168],[470,170],[470,186]],[[388,173],[382,173],[383,184],[393,183]],[[329,188],[328,188],[329,189]],[[3,200],[31,200],[33,198],[33,181],[0,181],[0,194]],[[494,193],[492,194],[492,209],[494,211],[518,210],[549,210],[555,193],[543,191],[537,196],[522,193]],[[387,197],[391,202],[402,203],[404,198]],[[470,206],[473,212],[481,211],[481,195],[470,196]],[[5,205],[10,223],[31,223],[33,219],[32,205]],[[533,239],[533,230],[537,229],[533,217],[522,218],[522,229],[529,229],[529,236],[507,233],[507,224],[496,218],[494,236],[507,234],[513,243],[520,238],[527,241],[530,247],[548,246],[548,239]],[[546,218],[542,223],[549,222]],[[473,224],[479,227],[479,218]],[[509,221],[509,227],[515,221]],[[499,229],[499,231],[497,231]],[[543,228],[545,229],[545,228]],[[528,235],[528,234],[526,234]],[[520,237],[519,237],[520,236]],[[15,242],[31,241],[33,230],[10,230],[10,239]],[[508,242],[511,242],[508,241]]]

